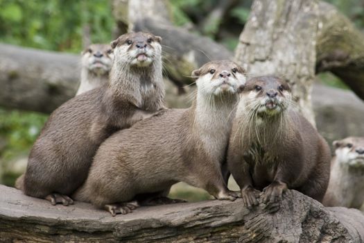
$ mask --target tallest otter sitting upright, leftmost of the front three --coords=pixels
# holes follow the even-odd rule
[[[164,108],[161,37],[126,33],[114,40],[110,82],[80,94],[46,121],[16,186],[29,196],[68,206],[87,178],[98,146]]]

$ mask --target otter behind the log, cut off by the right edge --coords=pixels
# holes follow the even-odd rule
[[[364,210],[364,137],[347,137],[334,141],[329,187],[324,206]]]

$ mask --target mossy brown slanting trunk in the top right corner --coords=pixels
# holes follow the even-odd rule
[[[319,9],[316,72],[332,72],[364,100],[364,34],[329,3]]]

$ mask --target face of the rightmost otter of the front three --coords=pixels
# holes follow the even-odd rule
[[[268,116],[286,110],[291,103],[291,87],[277,76],[250,78],[241,92],[246,109]]]

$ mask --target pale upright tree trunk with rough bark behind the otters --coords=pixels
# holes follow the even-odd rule
[[[250,74],[284,76],[311,124],[315,124],[311,90],[317,29],[317,1],[255,0],[235,55],[237,62],[249,67]]]

